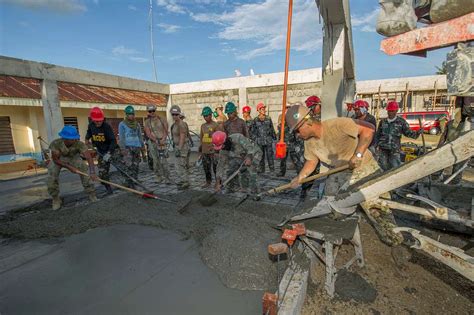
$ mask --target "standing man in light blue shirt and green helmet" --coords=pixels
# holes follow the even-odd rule
[[[140,153],[143,150],[142,128],[135,119],[135,109],[129,105],[125,107],[125,119],[119,124],[120,149],[125,157],[125,163],[128,168],[128,175],[138,179],[140,170]],[[134,182],[127,178],[126,185],[134,188]]]

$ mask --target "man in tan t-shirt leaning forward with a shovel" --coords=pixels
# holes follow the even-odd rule
[[[285,117],[290,129],[305,141],[306,162],[298,176],[291,181],[293,188],[315,170],[318,162],[328,168],[346,164],[349,164],[350,168],[328,176],[326,196],[340,194],[359,180],[381,172],[367,150],[374,136],[374,128],[369,123],[351,118],[334,118],[320,122],[312,117],[308,108],[303,105],[290,107]],[[361,206],[382,241],[391,245],[401,243],[401,235],[392,231],[396,225],[390,210],[373,215],[374,210],[370,209],[368,204],[364,202]]]

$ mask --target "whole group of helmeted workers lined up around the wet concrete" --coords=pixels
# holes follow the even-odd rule
[[[352,183],[378,170],[379,164],[383,170],[399,166],[401,136],[417,138],[423,131],[410,130],[408,123],[397,116],[398,103],[395,101],[387,104],[388,117],[382,119],[378,126],[368,108],[366,101],[357,100],[353,104],[355,115],[352,118],[334,118],[321,122],[321,99],[318,96],[308,97],[304,105],[288,105],[284,128],[287,154],[280,161],[279,171],[275,172],[273,145],[277,136],[280,136],[281,117],[277,133],[263,103],[257,105],[258,114],[255,118],[251,117],[249,106],[242,108],[243,118],[239,117],[237,106],[232,102],[215,110],[206,106],[201,112],[204,122],[200,128],[199,147],[206,179],[204,187],[212,185],[214,174],[215,190],[220,191],[224,180],[238,173],[226,183],[226,191],[244,191],[256,196],[259,192],[257,176],[265,172],[265,164],[271,174],[285,176],[288,157],[298,172],[298,176],[292,181],[295,187],[305,177],[319,172],[321,163],[329,168],[348,163],[355,169],[350,176],[346,174],[350,180],[335,180],[336,184],[328,180],[326,194],[336,193],[341,188],[337,183]],[[50,145],[52,163],[49,165],[48,191],[53,198],[53,209],[61,207],[58,189],[60,169],[65,167],[75,173],[87,172],[87,165],[81,156],[89,164],[89,174],[81,174],[82,184],[90,199],[96,200],[91,180],[97,180],[97,176],[90,146],[95,147],[97,153],[100,179],[110,179],[109,169],[112,164],[123,175],[124,184],[133,188],[138,177],[139,162],[145,155],[144,152],[148,151],[147,158],[153,161],[153,170],[159,183],[176,184],[179,190],[190,187],[190,131],[183,120],[184,113],[179,106],[173,105],[170,109],[173,123],[168,126],[167,120],[157,115],[155,105],[147,106],[147,112],[142,130],[135,118],[133,106],[127,106],[125,118],[119,124],[118,141],[112,127],[105,121],[103,111],[98,107],[90,111],[85,143],[79,141],[79,134],[74,127],[64,127],[59,133],[60,138]],[[174,147],[177,175],[174,179],[168,166],[169,135]],[[361,165],[364,167],[359,168]],[[306,197],[311,185],[311,182],[302,185],[301,198]],[[108,193],[112,193],[110,185],[104,186]]]

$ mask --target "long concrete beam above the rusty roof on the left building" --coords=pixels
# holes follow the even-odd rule
[[[0,75],[169,94],[169,85],[0,56]]]

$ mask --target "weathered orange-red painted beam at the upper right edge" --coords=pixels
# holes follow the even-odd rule
[[[385,38],[380,49],[387,55],[409,54],[474,40],[474,12]]]

